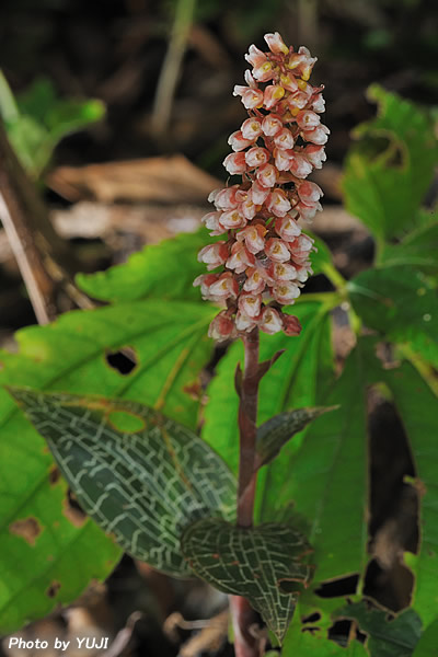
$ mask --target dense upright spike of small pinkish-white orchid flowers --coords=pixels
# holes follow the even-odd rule
[[[295,53],[278,32],[266,34],[265,41],[268,53],[250,46],[247,87],[237,85],[233,92],[250,117],[230,136],[234,152],[223,165],[231,175],[241,175],[242,183],[211,192],[208,200],[216,211],[203,218],[210,235],[228,233],[198,254],[207,269],[222,272],[194,281],[204,299],[224,307],[209,328],[217,341],[256,326],[268,334],[298,335],[298,319],[281,307],[295,302],[312,274],[313,240],[297,220],[310,221],[322,209],[321,188],[304,178],[326,159],[330,130],[319,116],[323,87],[308,82],[316,58],[306,47]]]

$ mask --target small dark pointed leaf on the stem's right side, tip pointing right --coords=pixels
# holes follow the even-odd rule
[[[335,411],[337,406],[297,408],[275,415],[257,429],[257,468],[269,463],[280,449],[299,431],[324,413]]]

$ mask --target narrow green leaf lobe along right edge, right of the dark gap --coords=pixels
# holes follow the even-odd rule
[[[385,382],[406,430],[417,475],[419,552],[417,555],[405,553],[405,561],[415,575],[413,608],[427,625],[438,608],[437,397],[408,362],[387,370]]]

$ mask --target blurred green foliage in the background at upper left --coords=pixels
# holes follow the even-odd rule
[[[35,180],[45,171],[64,137],[101,120],[104,114],[101,101],[60,100],[45,78],[36,80],[14,100],[0,71],[0,115],[16,155]]]

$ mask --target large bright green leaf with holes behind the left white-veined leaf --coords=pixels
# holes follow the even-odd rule
[[[191,388],[214,347],[207,304],[145,301],[62,315],[16,334],[0,353],[0,384],[32,385],[145,402],[196,426]],[[134,349],[120,374],[108,353]],[[120,555],[101,529],[71,508],[44,440],[0,388],[0,632],[70,602]]]

